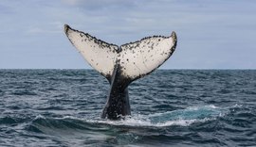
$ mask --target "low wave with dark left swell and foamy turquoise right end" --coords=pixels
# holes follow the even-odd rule
[[[125,117],[120,121],[102,120],[99,118],[76,118],[64,116],[63,118],[46,118],[37,116],[30,124],[30,130],[44,132],[46,128],[56,129],[96,129],[107,126],[126,127],[167,127],[173,125],[189,126],[195,122],[208,122],[229,113],[229,108],[217,106],[193,106],[185,109],[154,113],[149,115],[136,114]],[[43,129],[43,130],[42,130]]]

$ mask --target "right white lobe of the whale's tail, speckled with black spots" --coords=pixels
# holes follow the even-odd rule
[[[176,35],[154,36],[120,46],[122,74],[135,80],[152,73],[174,53]]]

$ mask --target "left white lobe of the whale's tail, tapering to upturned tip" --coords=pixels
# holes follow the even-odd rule
[[[116,64],[119,46],[72,29],[67,24],[64,24],[64,32],[90,66],[110,81]]]

